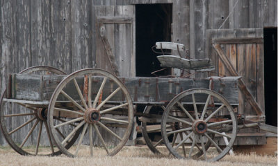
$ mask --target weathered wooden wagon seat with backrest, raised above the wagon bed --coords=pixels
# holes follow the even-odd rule
[[[196,71],[213,71],[215,69],[211,59],[182,58],[181,52],[186,51],[183,44],[177,44],[172,42],[156,42],[156,49],[170,49],[170,50],[177,50],[179,52],[179,55],[157,56],[157,59],[159,62],[161,62],[162,67],[189,69],[189,70],[196,70]]]

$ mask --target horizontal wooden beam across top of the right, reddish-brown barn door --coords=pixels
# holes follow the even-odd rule
[[[243,38],[217,38],[212,39],[213,44],[262,44],[263,37],[243,37]]]

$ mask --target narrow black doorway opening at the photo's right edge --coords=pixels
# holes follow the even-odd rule
[[[277,127],[277,28],[264,28],[265,123]]]

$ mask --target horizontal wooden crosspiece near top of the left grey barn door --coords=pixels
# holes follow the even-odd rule
[[[133,23],[133,17],[124,17],[124,16],[102,16],[97,17],[97,21],[103,24],[131,24]]]

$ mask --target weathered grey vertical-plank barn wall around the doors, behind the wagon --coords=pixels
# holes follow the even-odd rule
[[[94,6],[173,3],[173,42],[186,44],[192,57],[208,57],[207,30],[220,28],[236,1],[0,0],[0,91],[8,73],[29,66],[49,65],[66,73],[96,66]],[[222,28],[266,26],[277,26],[277,0],[239,0]]]

